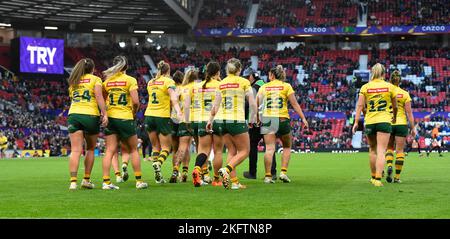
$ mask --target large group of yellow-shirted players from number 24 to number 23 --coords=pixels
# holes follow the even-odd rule
[[[94,164],[94,149],[100,132],[105,127],[106,150],[103,157],[102,189],[119,189],[112,184],[110,173],[113,166],[117,182],[128,180],[128,161],[131,158],[136,188],[148,184],[142,179],[141,160],[138,153],[136,113],[140,99],[135,78],[126,74],[128,64],[123,56],[114,58],[113,66],[103,72],[105,80],[93,75],[95,66],[91,59],[82,59],[69,77],[71,106],[68,130],[71,141],[70,187],[78,188],[77,172],[83,143],[85,143],[85,173],[82,188],[92,189],[90,180]],[[186,182],[188,178],[190,145],[195,141],[196,158],[192,171],[195,187],[211,184],[226,189],[243,189],[245,185],[236,176],[236,167],[249,155],[249,128],[261,126],[266,152],[264,155],[264,183],[274,183],[271,168],[276,139],[282,142],[282,166],[279,178],[290,182],[287,175],[291,157],[291,126],[288,102],[300,116],[304,127],[308,122],[298,104],[295,92],[286,83],[282,66],[269,72],[269,81],[255,93],[249,81],[240,77],[241,62],[232,58],[227,61],[226,74],[221,78],[221,67],[209,62],[205,78],[199,79],[198,71],[189,69],[170,76],[170,66],[161,61],[156,76],[147,83],[148,104],[144,124],[152,147],[152,166],[156,183],[165,183],[161,168],[173,154],[170,183]],[[248,103],[249,116],[245,115]],[[222,154],[227,149],[226,164]],[[122,152],[122,172],[118,167],[118,149]],[[208,157],[214,155],[212,167]],[[179,172],[182,165],[182,172]],[[213,177],[210,177],[210,168]]]

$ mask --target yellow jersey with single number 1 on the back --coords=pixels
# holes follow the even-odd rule
[[[145,116],[170,118],[170,96],[169,89],[176,90],[175,81],[161,76],[150,80],[147,84],[148,104]]]

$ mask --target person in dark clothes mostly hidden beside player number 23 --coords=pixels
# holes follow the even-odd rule
[[[259,87],[264,85],[264,81],[260,79],[258,72],[253,71],[253,69],[248,68],[244,72],[244,77],[250,81],[250,85],[253,88],[253,96],[256,97]],[[245,118],[249,117],[249,105],[248,101],[245,102]],[[261,134],[261,127],[258,125],[253,125],[249,128],[248,133],[250,135],[250,154],[249,154],[249,171],[244,172],[244,177],[248,179],[256,179],[256,170],[258,164],[258,143],[263,138]],[[272,179],[277,179],[277,161],[275,154],[273,155],[272,161]]]

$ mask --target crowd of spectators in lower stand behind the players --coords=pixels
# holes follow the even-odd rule
[[[222,63],[224,71],[226,60],[237,57],[242,60],[244,69],[247,69],[251,65],[250,56],[256,55],[260,59],[258,70],[262,79],[267,79],[268,70],[276,64],[282,64],[285,67],[287,81],[294,87],[297,92],[297,100],[305,111],[338,111],[347,115],[339,135],[329,131],[334,124],[329,120],[309,118],[311,126],[309,131],[300,130],[300,123],[293,120],[295,148],[351,147],[351,115],[354,110],[357,87],[346,76],[351,75],[354,69],[358,69],[358,60],[352,54],[359,54],[359,52],[349,55],[350,51],[333,51],[325,47],[312,48],[303,45],[286,48],[282,51],[262,48],[252,51],[240,48],[230,48],[227,51],[217,49],[197,51],[187,49],[187,47],[157,50],[153,47],[120,48],[116,46],[109,46],[110,51],[106,51],[107,47],[96,47],[96,50],[93,51],[96,54],[92,57],[100,62],[97,65],[104,65],[104,67],[110,65],[115,55],[123,54],[129,57],[128,74],[138,79],[142,103],[141,112],[138,114],[138,124],[142,123],[142,112],[148,98],[145,87],[146,80],[143,75],[149,75],[150,72],[139,72],[139,69],[146,64],[142,57],[144,54],[151,55],[155,62],[168,61],[172,66],[172,73],[175,70],[184,71],[185,67],[192,66],[199,69],[200,75],[210,60]],[[86,49],[80,50],[86,51]],[[401,86],[411,92],[413,108],[432,107],[437,111],[448,109],[445,106],[449,105],[450,77],[441,76],[440,71],[437,70],[433,70],[430,75],[424,74],[425,66],[428,65],[427,59],[449,59],[448,49],[431,44],[424,47],[402,42],[401,44],[393,43],[387,51],[372,48],[364,54],[370,56],[369,65],[375,61],[381,61],[389,68],[390,65],[402,63],[409,67],[405,68],[404,74],[425,76],[420,84],[414,84],[411,81],[402,82]],[[412,56],[419,57],[419,59],[413,60]],[[98,71],[97,74],[99,73]],[[299,74],[305,74],[308,77],[300,79]],[[222,72],[222,75],[225,75],[225,72]],[[151,75],[149,77],[151,78]],[[65,80],[17,79],[4,75],[0,82],[0,92],[2,93],[0,97],[0,130],[7,135],[11,148],[50,149],[52,152],[61,152],[62,148],[69,148],[67,131],[64,130],[70,104],[67,95],[68,85]],[[433,86],[434,90],[430,91],[429,86]],[[430,105],[430,102],[421,96],[424,92],[430,96],[444,94],[445,99]]]

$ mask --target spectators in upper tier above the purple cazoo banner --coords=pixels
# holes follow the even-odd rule
[[[243,28],[249,0],[205,1],[198,28]],[[259,0],[256,28],[356,26],[358,7],[372,26],[448,25],[447,0]],[[236,14],[239,12],[239,14]],[[362,17],[362,15],[360,16]],[[362,19],[361,19],[362,20]]]

